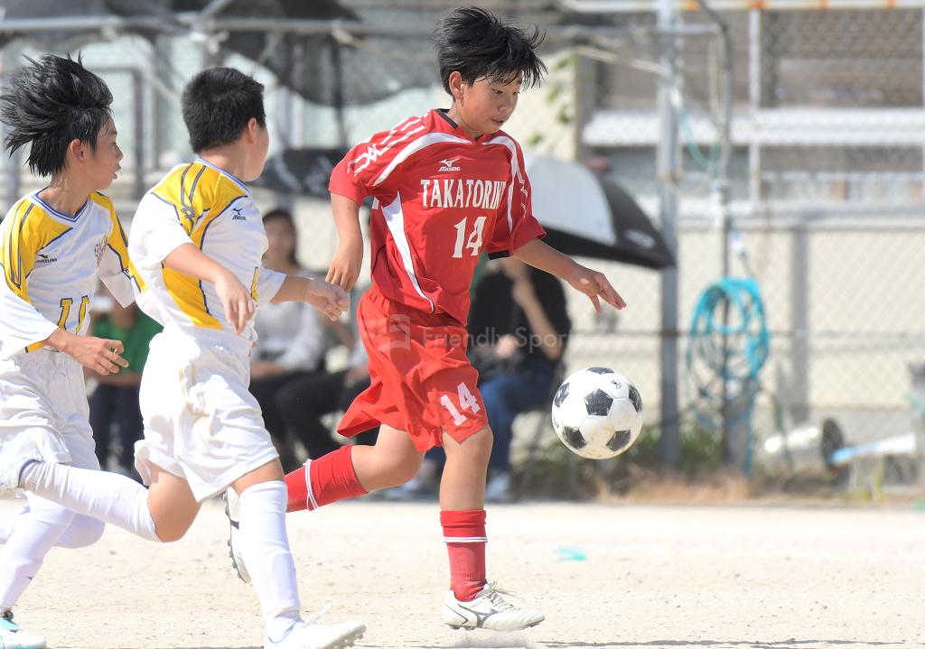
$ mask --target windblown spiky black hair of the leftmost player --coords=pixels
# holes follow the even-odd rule
[[[68,163],[68,146],[80,140],[96,150],[96,138],[112,116],[112,92],[104,80],[73,60],[44,55],[17,70],[0,94],[6,149],[12,156],[31,144],[29,168],[56,176]]]

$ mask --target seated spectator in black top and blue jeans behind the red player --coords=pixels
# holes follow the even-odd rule
[[[494,435],[486,499],[495,502],[511,497],[513,422],[549,398],[572,329],[556,277],[513,257],[499,260],[498,268],[475,288],[467,326],[469,355]],[[441,448],[428,452],[417,477],[394,496],[434,491],[442,459]]]

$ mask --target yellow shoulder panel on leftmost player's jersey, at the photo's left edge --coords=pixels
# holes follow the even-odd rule
[[[14,207],[10,223],[4,228],[3,242],[0,243],[0,260],[3,261],[6,286],[19,298],[31,303],[26,278],[35,266],[36,256],[70,229],[28,199],[22,199]]]

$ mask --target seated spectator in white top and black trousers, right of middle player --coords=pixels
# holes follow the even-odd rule
[[[268,247],[264,265],[288,275],[305,270],[296,257],[296,229],[289,212],[273,210],[264,216]],[[291,383],[324,370],[328,349],[338,342],[352,345],[349,327],[331,323],[305,302],[270,303],[254,319],[257,344],[251,355],[251,394],[264,413],[266,430],[279,450],[283,469],[298,466],[288,435],[287,418],[278,395]]]

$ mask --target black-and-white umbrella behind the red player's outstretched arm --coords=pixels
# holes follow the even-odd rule
[[[616,182],[545,155],[528,155],[526,170],[533,213],[553,248],[646,268],[674,265],[660,232]]]

